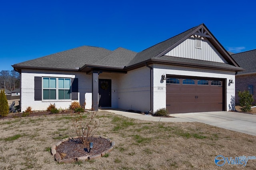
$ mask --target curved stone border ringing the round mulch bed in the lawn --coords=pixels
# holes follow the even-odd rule
[[[71,138],[64,138],[60,141],[58,141],[56,144],[53,144],[52,147],[51,147],[51,152],[52,152],[52,156],[54,156],[55,160],[58,162],[58,163],[72,163],[72,162],[76,162],[76,161],[79,161],[79,160],[82,160],[82,161],[85,161],[85,160],[94,160],[94,159],[97,159],[97,158],[100,158],[102,156],[104,156],[105,154],[109,153],[111,150],[113,150],[114,148],[114,145],[115,145],[115,142],[110,140],[109,138],[107,138],[106,136],[102,136],[102,135],[93,135],[92,136],[93,138],[104,138],[106,140],[108,140],[109,142],[111,142],[111,145],[110,147],[105,150],[104,152],[100,153],[100,154],[96,154],[96,155],[89,155],[89,156],[81,156],[81,157],[78,157],[78,158],[74,158],[74,159],[62,159],[60,154],[58,152],[56,152],[56,147],[59,146],[62,142],[66,142],[70,139],[76,139],[76,138],[79,138],[78,136],[75,136],[75,137],[71,137]]]

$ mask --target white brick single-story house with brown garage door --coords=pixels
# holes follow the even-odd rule
[[[154,113],[228,111],[235,74],[243,71],[204,24],[139,53],[82,46],[17,63],[21,111],[120,108]]]

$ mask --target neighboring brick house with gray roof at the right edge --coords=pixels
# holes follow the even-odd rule
[[[254,95],[254,101],[256,101],[256,49],[231,56],[245,69],[236,75],[236,105],[240,105],[238,91],[248,90],[250,94]]]

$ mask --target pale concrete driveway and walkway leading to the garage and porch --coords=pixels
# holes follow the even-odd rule
[[[246,134],[256,136],[256,115],[249,115],[236,112],[200,112],[200,113],[179,113],[171,114],[173,118],[168,117],[152,117],[131,113],[127,111],[104,109],[104,111],[112,112],[125,117],[140,119],[144,121],[156,122],[200,122],[208,125],[234,130]]]

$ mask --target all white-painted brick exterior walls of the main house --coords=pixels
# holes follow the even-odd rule
[[[166,107],[166,81],[161,80],[164,75],[212,77],[226,79],[226,110],[232,109],[232,99],[235,96],[235,72],[212,69],[200,69],[171,65],[152,64],[153,67],[153,111]],[[86,93],[92,93],[92,75],[81,72],[65,71],[38,71],[22,69],[21,73],[21,111],[28,106],[32,110],[46,110],[50,103],[55,103],[57,108],[68,108],[71,101],[42,102],[34,101],[34,77],[67,77],[78,78],[78,91],[80,105],[84,104]],[[131,109],[135,111],[150,111],[150,69],[146,66],[123,73],[101,73],[99,79],[111,79],[112,108]],[[233,79],[234,84],[228,84]],[[88,97],[87,97],[88,98]],[[91,99],[86,98],[86,103],[91,105]],[[91,106],[86,106],[91,108]]]

